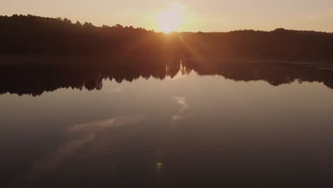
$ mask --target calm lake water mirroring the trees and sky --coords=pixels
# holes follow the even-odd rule
[[[255,65],[2,68],[0,187],[332,187],[333,71]]]

